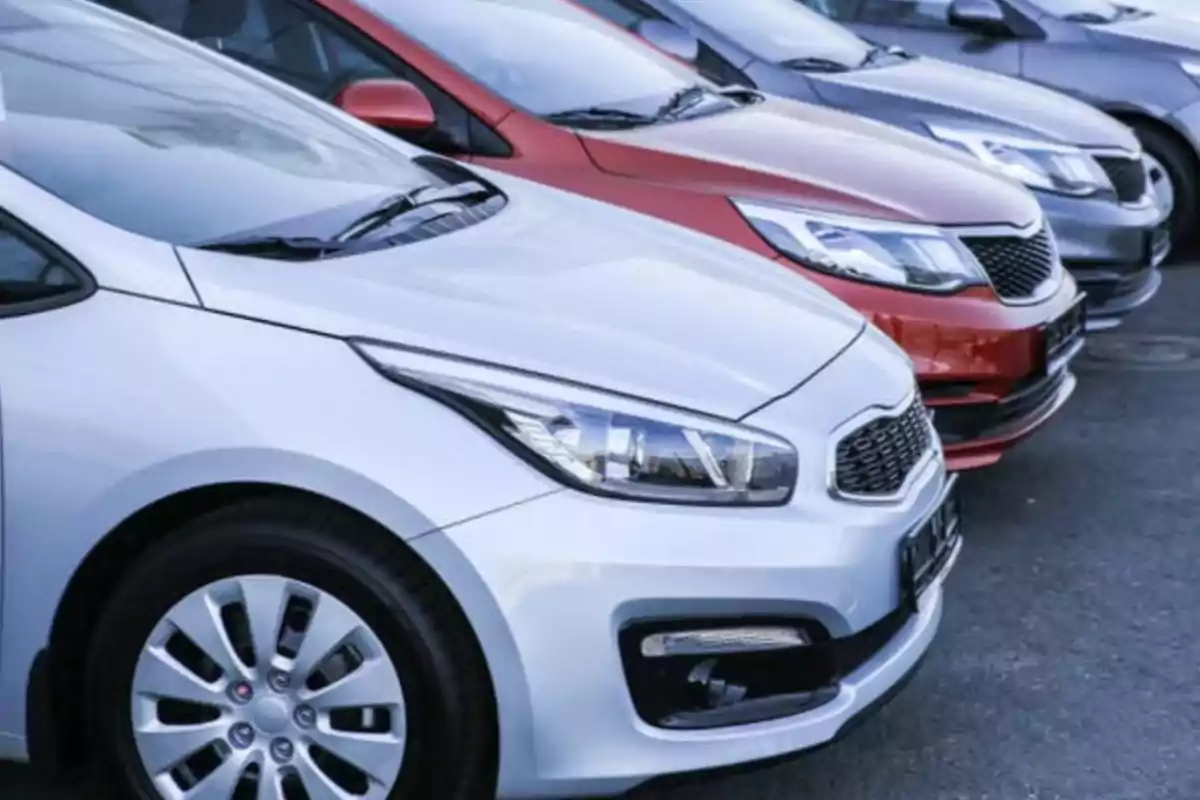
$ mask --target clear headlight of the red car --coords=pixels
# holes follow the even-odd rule
[[[763,200],[734,198],[733,205],[780,253],[838,277],[938,293],[988,283],[970,251],[931,225],[842,217]]]

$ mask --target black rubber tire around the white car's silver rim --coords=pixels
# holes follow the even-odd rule
[[[494,798],[494,700],[479,649],[427,567],[364,528],[336,509],[252,500],[185,525],[142,558],[104,608],[88,654],[88,733],[103,786],[122,800],[160,799],[137,754],[130,709],[134,666],[154,626],[196,589],[268,573],[334,595],[388,650],[407,710],[390,800]]]

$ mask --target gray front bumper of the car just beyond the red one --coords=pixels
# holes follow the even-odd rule
[[[1121,324],[1158,293],[1170,255],[1166,215],[1156,205],[1037,193],[1063,265],[1087,293],[1088,330]]]

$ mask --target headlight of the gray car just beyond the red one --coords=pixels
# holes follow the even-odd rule
[[[1079,148],[938,125],[930,125],[929,131],[1030,188],[1076,197],[1112,188],[1096,158]]]

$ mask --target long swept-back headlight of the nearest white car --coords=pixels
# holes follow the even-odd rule
[[[784,439],[605,391],[354,343],[390,380],[440,401],[546,475],[626,500],[784,505],[798,457]]]

